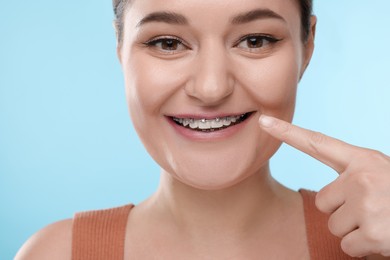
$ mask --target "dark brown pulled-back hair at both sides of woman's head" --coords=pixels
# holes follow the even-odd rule
[[[310,33],[310,17],[313,13],[313,0],[298,0],[301,11],[302,41],[306,42]],[[123,41],[123,20],[125,11],[132,0],[112,0],[115,14],[115,29],[118,44]]]

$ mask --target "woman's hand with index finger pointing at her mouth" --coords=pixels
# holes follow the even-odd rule
[[[260,117],[273,137],[330,166],[339,177],[318,192],[317,208],[330,214],[329,230],[353,257],[390,256],[390,157],[285,121]]]

